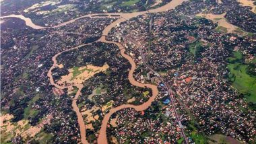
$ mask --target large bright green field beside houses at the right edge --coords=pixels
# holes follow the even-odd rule
[[[232,81],[232,86],[244,94],[249,102],[256,102],[256,77],[248,73],[249,65],[242,64],[242,59],[241,52],[233,52],[232,57],[227,59],[230,71],[228,77]]]

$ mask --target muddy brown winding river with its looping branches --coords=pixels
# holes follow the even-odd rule
[[[188,1],[188,0],[172,0],[172,1],[170,1],[170,3],[167,3],[166,5],[163,5],[162,7],[158,7],[156,9],[150,9],[149,11],[139,11],[139,12],[133,12],[133,13],[95,13],[95,14],[88,14],[88,15],[84,15],[82,17],[77,17],[73,20],[69,20],[67,22],[63,22],[63,23],[61,23],[57,26],[53,26],[53,27],[37,26],[36,24],[34,24],[32,22],[32,20],[30,18],[24,17],[23,15],[7,15],[7,16],[3,16],[3,17],[0,17],[0,18],[3,19],[3,18],[7,18],[7,17],[18,17],[18,18],[20,18],[20,19],[22,19],[26,22],[26,26],[29,26],[29,27],[34,28],[34,29],[43,29],[43,28],[58,28],[58,27],[61,27],[61,26],[65,26],[66,24],[70,24],[72,22],[75,22],[75,20],[79,20],[79,19],[84,18],[84,17],[91,17],[91,18],[101,17],[101,16],[97,16],[97,15],[100,15],[100,14],[108,15],[108,16],[102,16],[102,17],[110,17],[110,15],[120,15],[119,19],[117,19],[115,22],[109,24],[108,26],[106,26],[106,28],[104,28],[104,30],[102,31],[102,36],[97,41],[98,42],[106,42],[106,43],[116,44],[119,47],[119,50],[121,51],[121,55],[125,59],[127,59],[129,61],[129,63],[131,64],[131,69],[130,69],[129,75],[128,75],[128,79],[129,79],[130,83],[134,86],[137,86],[137,87],[149,87],[149,88],[151,88],[152,89],[152,96],[150,97],[150,99],[147,102],[145,102],[141,105],[138,105],[138,106],[135,106],[133,104],[123,104],[121,106],[117,106],[115,108],[110,109],[108,114],[106,114],[104,116],[103,120],[102,120],[102,125],[101,125],[99,135],[98,135],[98,139],[97,139],[98,143],[105,144],[105,143],[107,143],[106,125],[107,125],[108,120],[110,119],[110,116],[112,114],[114,114],[115,112],[117,112],[119,110],[122,110],[123,108],[134,108],[137,111],[146,110],[152,104],[152,102],[154,101],[156,96],[158,95],[158,89],[157,89],[156,85],[143,84],[143,83],[139,83],[139,82],[135,81],[135,79],[133,77],[133,72],[135,71],[135,68],[136,68],[135,62],[133,61],[133,59],[131,57],[129,57],[129,55],[125,54],[125,48],[123,47],[122,44],[120,44],[118,42],[113,42],[113,41],[106,40],[106,36],[108,35],[108,32],[110,32],[110,30],[113,27],[117,26],[117,24],[120,24],[121,22],[125,22],[125,21],[131,19],[132,17],[137,17],[138,15],[143,15],[143,14],[146,14],[148,12],[158,13],[158,12],[163,12],[163,11],[167,11],[167,10],[170,10],[170,9],[174,9],[178,5],[181,5],[181,3],[183,3],[184,1]],[[89,43],[89,44],[91,44],[91,43]],[[62,52],[77,49],[77,48],[79,48],[81,46],[85,46],[85,45],[88,45],[88,44],[81,44],[79,46],[75,46],[73,48],[64,50]],[[59,89],[65,89],[67,87],[66,86],[60,86],[57,83],[55,83],[55,81],[53,80],[52,70],[55,67],[57,67],[57,60],[56,59],[59,55],[61,55],[62,52],[57,53],[52,58],[53,65],[47,73],[47,76],[49,77],[51,84],[54,85],[55,87],[59,88]],[[73,85],[71,85],[71,86],[73,86]],[[73,107],[73,110],[75,111],[75,113],[77,114],[77,120],[78,120],[78,124],[79,124],[82,143],[88,143],[88,141],[86,140],[86,127],[85,127],[85,124],[84,124],[84,119],[82,118],[82,114],[81,114],[81,112],[79,112],[79,108],[77,107],[77,103],[76,103],[77,98],[81,95],[81,89],[82,89],[83,85],[74,85],[74,86],[77,86],[78,90],[77,90],[77,93],[75,94],[75,98],[73,98],[72,107]]]

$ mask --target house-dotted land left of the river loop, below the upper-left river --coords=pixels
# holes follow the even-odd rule
[[[84,18],[61,28],[43,30],[34,30],[20,21],[22,20],[12,18],[5,20],[10,25],[4,25],[3,22],[5,27],[1,30],[1,46],[4,46],[1,48],[1,110],[13,114],[14,120],[20,120],[24,118],[24,110],[30,100],[37,96],[39,99],[32,103],[32,108],[38,113],[29,117],[30,124],[38,123],[40,118],[51,113],[57,118],[55,124],[65,124],[61,130],[59,126],[51,129],[53,139],[56,138],[59,142],[63,139],[79,141],[79,129],[73,115],[71,99],[63,94],[65,89],[63,92],[53,88],[47,73],[53,65],[54,55],[83,44],[88,38],[99,38],[104,26],[112,20]],[[65,106],[55,104],[64,101],[69,102]],[[62,108],[67,110],[66,113],[59,112]]]

